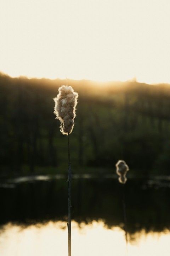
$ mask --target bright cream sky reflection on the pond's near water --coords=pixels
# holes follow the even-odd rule
[[[48,222],[30,226],[8,223],[0,229],[2,256],[67,256],[68,232],[66,222]],[[128,256],[169,256],[170,232],[134,234],[128,243]],[[119,227],[108,229],[104,222],[90,224],[72,222],[73,256],[127,255],[124,231]]]

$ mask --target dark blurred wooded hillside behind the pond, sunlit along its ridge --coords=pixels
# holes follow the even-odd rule
[[[124,159],[134,175],[169,173],[169,85],[0,74],[1,176],[67,172],[67,136],[53,114],[66,83],[79,94],[70,135],[74,172],[113,172]]]

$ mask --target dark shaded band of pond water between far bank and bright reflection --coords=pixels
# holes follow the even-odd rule
[[[0,224],[67,220],[67,186],[67,177],[62,175],[1,181]],[[123,227],[123,193],[129,234],[142,229],[170,230],[169,177],[129,178],[122,185],[114,176],[73,175],[72,219],[78,223],[102,219],[108,228]]]

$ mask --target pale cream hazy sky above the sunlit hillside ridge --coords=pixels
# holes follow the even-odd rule
[[[170,0],[0,0],[12,77],[170,83]]]

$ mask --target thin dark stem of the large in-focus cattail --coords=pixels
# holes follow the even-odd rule
[[[68,133],[68,256],[71,256],[71,229],[72,229],[72,207],[71,207],[71,163],[70,163],[70,142]]]

